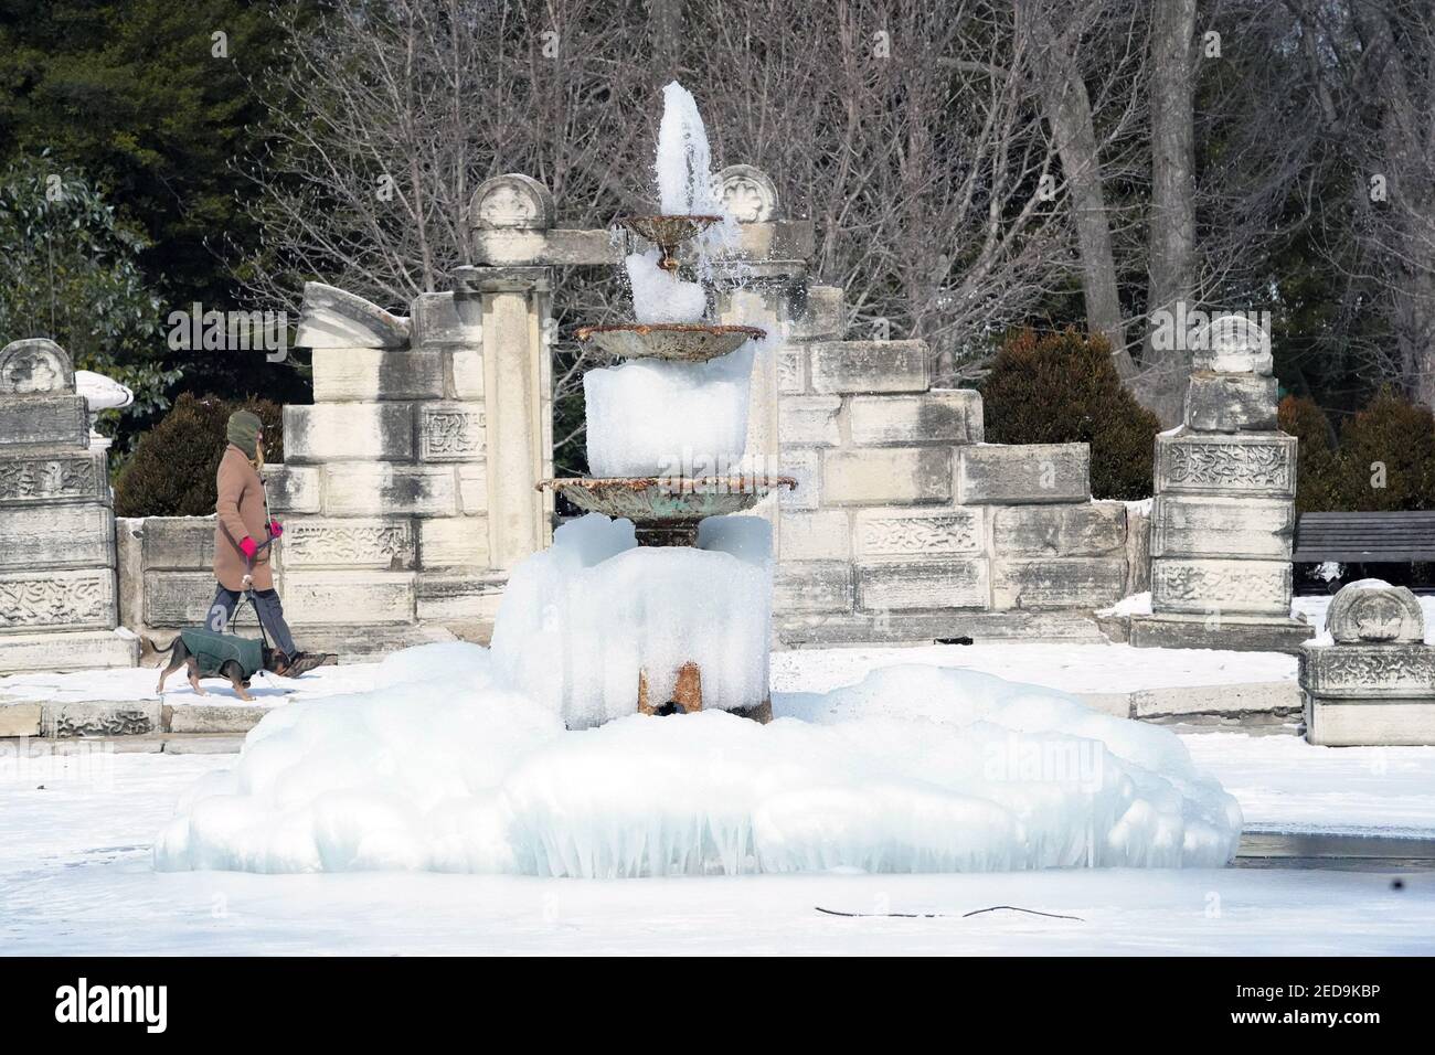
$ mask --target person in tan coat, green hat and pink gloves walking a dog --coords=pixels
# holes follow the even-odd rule
[[[274,642],[274,673],[297,677],[313,670],[326,656],[300,652],[284,622],[284,606],[274,590],[270,550],[284,528],[268,515],[264,500],[264,423],[258,415],[235,411],[227,429],[230,445],[220,459],[215,478],[218,498],[214,505],[214,577],[220,589],[210,606],[211,630],[222,630],[234,617],[240,597],[254,587],[254,607],[260,623]]]

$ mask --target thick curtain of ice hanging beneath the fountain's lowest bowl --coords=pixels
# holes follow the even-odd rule
[[[598,514],[564,524],[508,580],[497,669],[571,729],[633,713],[640,670],[666,702],[689,662],[705,708],[752,706],[768,695],[772,528],[713,517],[697,544],[640,550],[630,521]]]

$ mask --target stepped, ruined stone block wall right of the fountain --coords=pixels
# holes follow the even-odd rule
[[[779,360],[778,634],[789,644],[1095,639],[1135,583],[1128,511],[1092,502],[1085,444],[983,442],[982,396],[930,385],[918,340],[844,340],[812,286]]]

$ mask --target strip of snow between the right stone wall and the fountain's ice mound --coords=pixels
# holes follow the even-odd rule
[[[903,663],[980,670],[1075,693],[1296,680],[1296,657],[1279,652],[984,642],[776,652],[772,689],[827,692],[861,680],[868,670]]]

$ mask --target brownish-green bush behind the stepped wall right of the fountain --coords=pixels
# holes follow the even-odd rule
[[[982,385],[993,444],[1091,444],[1096,498],[1147,498],[1161,422],[1121,383],[1104,337],[1025,330]]]

